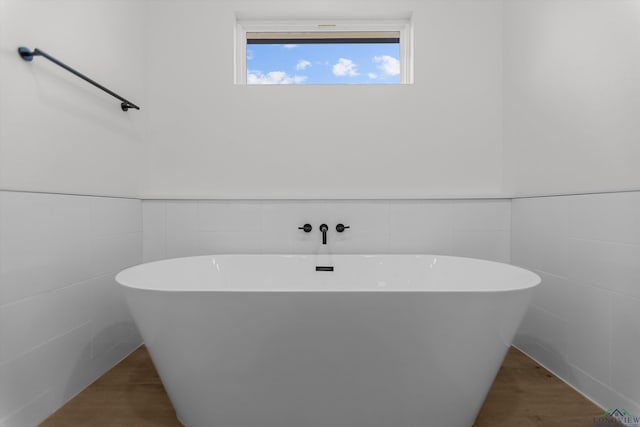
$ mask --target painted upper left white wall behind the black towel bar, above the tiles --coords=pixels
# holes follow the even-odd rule
[[[145,130],[144,3],[3,0],[0,189],[137,196]],[[138,103],[115,98],[44,58],[40,48]]]

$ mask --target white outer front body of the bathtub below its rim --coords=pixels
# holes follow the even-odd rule
[[[126,292],[188,427],[470,427],[530,297]]]

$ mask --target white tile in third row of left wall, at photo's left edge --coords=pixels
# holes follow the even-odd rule
[[[0,363],[86,323],[88,299],[80,283],[0,306]]]

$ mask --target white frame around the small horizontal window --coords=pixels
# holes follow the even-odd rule
[[[394,20],[237,20],[234,82],[247,84],[247,33],[274,32],[397,31],[400,33],[400,84],[413,84],[413,25],[410,19]]]

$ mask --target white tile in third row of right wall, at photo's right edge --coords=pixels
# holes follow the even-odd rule
[[[640,405],[640,299],[613,299],[613,388]]]

